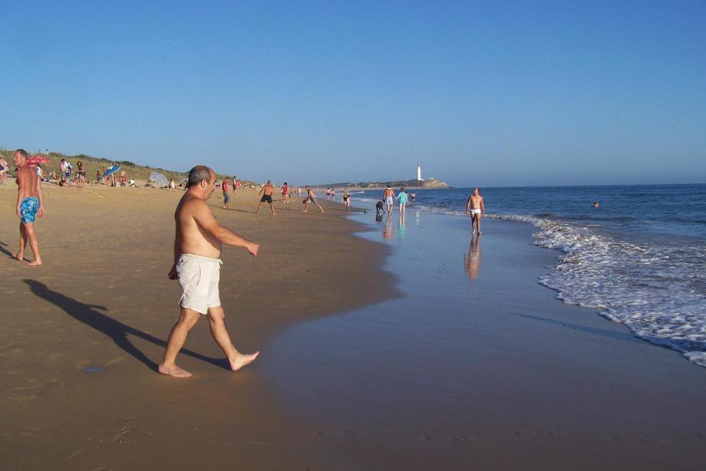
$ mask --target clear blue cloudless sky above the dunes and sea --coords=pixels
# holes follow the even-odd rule
[[[0,11],[5,148],[295,184],[706,181],[702,0]]]

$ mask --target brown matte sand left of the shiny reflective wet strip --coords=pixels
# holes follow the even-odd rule
[[[0,456],[8,469],[290,469],[326,467],[295,436],[301,424],[272,407],[255,362],[227,371],[203,320],[178,362],[187,380],[155,372],[179,314],[167,280],[173,213],[181,191],[45,186],[36,224],[44,266],[10,258],[18,244],[16,186],[0,186]],[[258,257],[228,247],[221,299],[234,343],[268,352],[294,321],[390,296],[378,258],[385,248],[352,236],[342,205],[301,213],[238,191],[220,222],[261,244]],[[312,209],[312,208],[310,208]],[[26,256],[31,257],[28,248]],[[340,274],[346,273],[346,287]],[[297,466],[299,467],[299,466]]]

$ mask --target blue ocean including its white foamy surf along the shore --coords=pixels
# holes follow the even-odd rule
[[[421,190],[411,205],[462,217],[470,193]],[[352,192],[353,204],[381,194]],[[532,242],[559,251],[554,270],[538,280],[558,299],[599,309],[638,338],[706,366],[706,184],[484,188],[481,195],[487,217],[532,224]]]

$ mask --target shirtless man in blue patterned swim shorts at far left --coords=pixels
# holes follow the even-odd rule
[[[44,215],[44,195],[40,179],[27,163],[27,152],[18,149],[12,156],[17,167],[17,208],[16,214],[20,218],[20,249],[15,258],[22,261],[25,257],[25,247],[30,242],[35,260],[29,264],[32,266],[42,265],[40,257],[40,244],[37,242],[35,234],[35,217]]]

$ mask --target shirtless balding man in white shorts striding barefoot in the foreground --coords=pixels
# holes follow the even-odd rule
[[[258,254],[260,246],[222,227],[215,220],[206,204],[215,190],[215,181],[216,174],[212,169],[203,165],[193,167],[189,172],[189,189],[181,197],[174,213],[177,235],[174,239],[174,265],[168,276],[169,280],[179,280],[181,286],[181,316],[169,333],[167,350],[158,370],[161,374],[177,378],[191,376],[189,371],[179,368],[175,360],[189,332],[204,314],[208,315],[211,334],[225,353],[230,369],[241,369],[259,354],[242,354],[234,347],[225,326],[218,281],[222,244],[243,247],[253,256]]]

